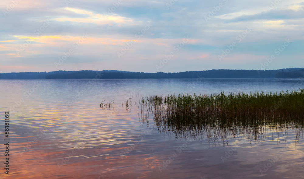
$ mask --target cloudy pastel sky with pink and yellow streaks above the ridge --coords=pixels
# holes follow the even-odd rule
[[[0,10],[0,72],[304,66],[303,0],[1,0]]]

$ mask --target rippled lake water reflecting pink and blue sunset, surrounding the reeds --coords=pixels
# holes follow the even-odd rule
[[[302,79],[2,79],[10,170],[6,175],[2,167],[1,178],[304,178],[302,127],[243,126],[232,133],[217,126],[181,134],[155,125],[139,105],[156,94],[303,87]],[[103,100],[114,100],[113,107],[100,108]]]

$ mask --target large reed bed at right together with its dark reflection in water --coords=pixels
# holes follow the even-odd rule
[[[302,131],[304,89],[282,92],[224,93],[211,95],[150,96],[141,99],[141,111],[152,111],[160,132],[207,138],[250,134],[259,140],[263,130]]]

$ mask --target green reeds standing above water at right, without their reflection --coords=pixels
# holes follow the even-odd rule
[[[144,101],[146,100],[146,101]],[[178,94],[143,99],[163,120],[254,119],[276,121],[302,118],[304,89],[282,92]],[[146,105],[147,106],[147,105]]]

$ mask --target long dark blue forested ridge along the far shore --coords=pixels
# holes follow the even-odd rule
[[[279,70],[207,70],[177,73],[144,73],[117,70],[104,71],[54,71],[0,73],[0,79],[178,79],[178,78],[300,78],[304,68],[285,68]]]

